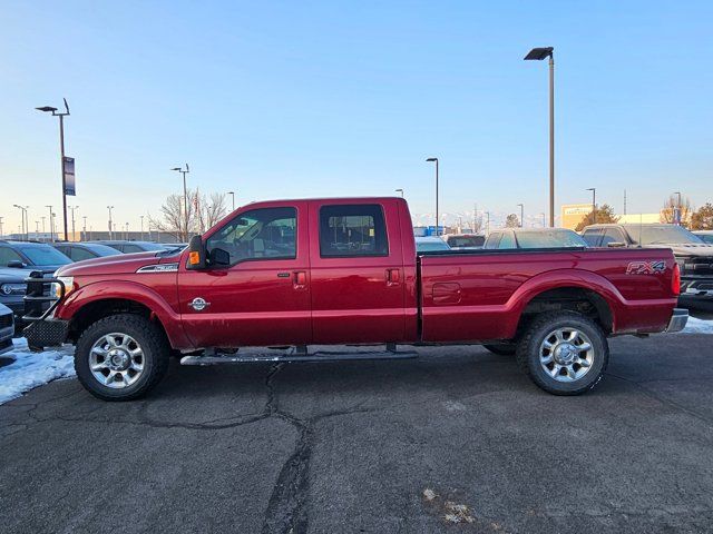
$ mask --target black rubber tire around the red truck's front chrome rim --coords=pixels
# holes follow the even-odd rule
[[[101,384],[90,369],[90,350],[95,343],[113,333],[125,334],[141,349],[143,370],[130,385],[113,388]],[[166,376],[170,347],[164,332],[149,319],[134,314],[105,317],[90,325],[79,337],[75,350],[75,370],[81,385],[102,400],[134,400],[150,392]]]

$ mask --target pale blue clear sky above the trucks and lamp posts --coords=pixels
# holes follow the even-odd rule
[[[0,33],[0,216],[59,209],[57,120],[80,206],[138,229],[191,186],[236,201],[406,189],[432,212],[547,209],[554,46],[557,205],[713,201],[711,2],[26,2]],[[558,212],[558,210],[557,210]]]

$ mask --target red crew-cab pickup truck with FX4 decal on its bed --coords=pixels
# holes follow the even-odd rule
[[[56,300],[42,313],[42,285]],[[90,259],[31,278],[31,347],[72,343],[81,384],[107,400],[146,394],[183,364],[397,358],[398,344],[482,344],[514,354],[543,389],[594,387],[607,337],[680,330],[668,249],[418,254],[401,198],[255,202],[178,253]],[[47,291],[45,291],[47,293]],[[32,309],[35,312],[32,312]],[[310,353],[307,345],[385,344]],[[271,360],[275,358],[268,356]]]

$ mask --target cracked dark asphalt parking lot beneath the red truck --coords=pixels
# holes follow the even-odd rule
[[[570,398],[480,347],[174,365],[126,404],[55,382],[0,406],[1,530],[711,532],[711,339],[614,339]]]

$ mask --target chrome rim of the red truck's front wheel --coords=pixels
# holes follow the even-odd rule
[[[89,368],[99,384],[121,389],[134,384],[144,373],[144,350],[131,336],[107,334],[89,350]]]

